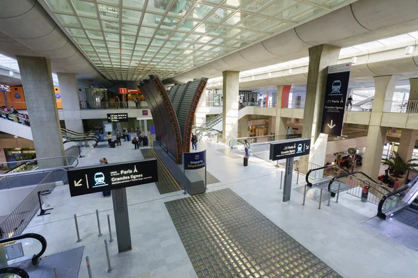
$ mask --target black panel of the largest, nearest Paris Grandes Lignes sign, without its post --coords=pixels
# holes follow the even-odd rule
[[[71,197],[158,181],[155,158],[75,168],[67,174]]]

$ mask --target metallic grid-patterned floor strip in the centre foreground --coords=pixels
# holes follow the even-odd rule
[[[229,188],[165,205],[198,277],[340,277]]]

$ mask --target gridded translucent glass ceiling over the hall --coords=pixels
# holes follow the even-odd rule
[[[42,0],[111,80],[167,79],[356,0]]]

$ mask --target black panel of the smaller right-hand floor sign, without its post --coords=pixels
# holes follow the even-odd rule
[[[310,150],[310,139],[281,140],[270,144],[270,160],[278,161],[284,158],[304,156],[309,154]]]

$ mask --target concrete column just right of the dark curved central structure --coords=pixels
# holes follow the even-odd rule
[[[222,140],[226,138],[238,138],[238,95],[240,88],[240,72],[222,72],[223,81],[223,116],[222,116]]]

